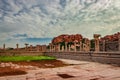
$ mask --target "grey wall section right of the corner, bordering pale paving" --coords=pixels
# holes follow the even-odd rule
[[[45,52],[44,55],[63,59],[120,65],[120,52]]]

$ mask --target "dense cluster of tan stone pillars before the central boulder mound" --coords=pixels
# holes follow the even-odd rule
[[[60,44],[54,45],[52,43],[49,44],[49,51],[71,51],[73,49],[74,51],[77,51],[77,47],[79,47],[79,51],[90,51],[90,41],[87,41],[86,43],[82,42],[74,42],[73,45],[68,45],[67,42],[65,42],[64,46],[61,46]]]

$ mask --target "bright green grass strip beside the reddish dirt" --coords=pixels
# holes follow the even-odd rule
[[[0,56],[0,62],[7,61],[37,61],[37,60],[55,60],[48,56]]]

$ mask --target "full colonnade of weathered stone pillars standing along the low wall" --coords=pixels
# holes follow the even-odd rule
[[[99,34],[94,34],[94,42],[95,42],[95,51],[99,52],[100,51],[100,41],[99,41]],[[102,41],[102,51],[105,51],[105,44],[106,41]],[[37,45],[37,46],[28,46],[29,44],[25,43],[25,51],[47,51],[47,46],[46,45]],[[90,40],[85,39],[84,42],[80,41],[74,41],[73,44],[69,44],[65,42],[64,45],[61,44],[49,44],[49,51],[90,51]],[[120,51],[120,35],[119,35],[119,40],[118,40],[118,51]],[[6,45],[3,44],[3,50],[6,49]],[[19,50],[19,44],[16,44],[16,50]]]

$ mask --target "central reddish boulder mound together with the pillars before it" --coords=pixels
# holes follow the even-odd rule
[[[90,40],[82,35],[60,35],[49,44],[50,51],[90,51]]]

